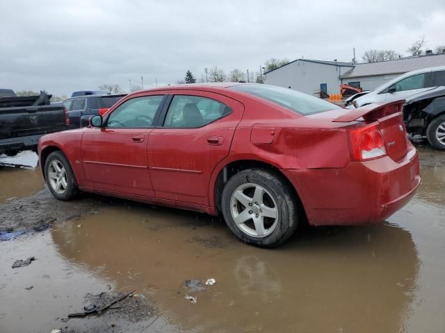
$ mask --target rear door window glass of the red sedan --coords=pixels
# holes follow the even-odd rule
[[[214,99],[177,95],[170,103],[163,127],[199,128],[231,112],[231,108]]]

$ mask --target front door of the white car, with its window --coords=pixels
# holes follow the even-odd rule
[[[386,101],[398,101],[401,99],[406,99],[409,96],[423,92],[423,90],[428,89],[428,78],[430,77],[430,72],[414,74],[403,78],[398,82],[394,83],[387,89],[384,90]],[[395,92],[389,92],[391,87],[395,87]]]

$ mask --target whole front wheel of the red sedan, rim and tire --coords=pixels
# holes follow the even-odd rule
[[[44,163],[44,178],[51,194],[58,200],[72,200],[76,195],[76,180],[70,162],[61,151],[49,154]]]

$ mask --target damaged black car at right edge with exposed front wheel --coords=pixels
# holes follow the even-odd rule
[[[445,87],[428,89],[406,99],[403,118],[411,136],[426,137],[431,146],[445,151]]]

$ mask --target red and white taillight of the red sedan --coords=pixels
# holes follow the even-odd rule
[[[382,133],[375,124],[350,130],[349,138],[352,160],[364,161],[387,155]]]

